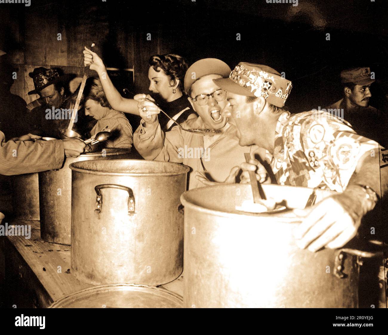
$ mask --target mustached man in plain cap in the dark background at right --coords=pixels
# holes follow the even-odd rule
[[[372,97],[370,86],[374,81],[369,67],[341,71],[343,98],[327,109],[343,111],[343,118],[352,125],[357,134],[387,147],[388,120],[384,114],[369,105],[369,99]]]

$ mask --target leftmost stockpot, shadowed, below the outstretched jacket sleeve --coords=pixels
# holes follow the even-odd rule
[[[12,211],[14,218],[38,221],[38,173],[17,174],[11,177]]]

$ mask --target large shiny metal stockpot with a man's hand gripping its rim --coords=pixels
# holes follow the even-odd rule
[[[267,197],[303,209],[312,189],[263,185]],[[332,192],[316,190],[316,202]],[[359,256],[353,249],[299,249],[283,213],[235,209],[250,185],[185,192],[184,307],[357,307]],[[330,211],[330,208],[327,209]],[[278,216],[278,217],[277,217]],[[358,255],[358,256],[357,256]]]

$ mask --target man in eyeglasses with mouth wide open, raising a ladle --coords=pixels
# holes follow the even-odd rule
[[[258,150],[256,145],[239,146],[236,127],[220,113],[227,104],[227,93],[213,79],[228,77],[230,71],[222,60],[201,59],[189,67],[184,79],[188,99],[199,116],[188,119],[181,126],[184,129],[220,130],[221,133],[217,135],[196,135],[178,126],[164,133],[158,122],[160,109],[145,100],[145,95],[135,96],[142,117],[139,128],[133,134],[135,148],[148,160],[190,166],[189,189],[214,182],[235,181],[240,171],[239,165],[245,161],[244,153]],[[262,151],[264,157],[265,151]]]

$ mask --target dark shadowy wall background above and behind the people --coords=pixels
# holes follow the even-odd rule
[[[18,69],[12,93],[27,102],[36,98],[26,95],[28,72],[61,66],[82,74],[83,46],[95,42],[108,67],[134,69],[133,93],[148,92],[151,54],[180,54],[190,64],[216,57],[284,72],[293,81],[288,107],[300,112],[339,100],[341,69],[369,66],[378,79],[371,105],[385,110],[388,85],[379,81],[388,77],[387,14],[386,0],[31,0],[29,7],[0,4],[0,49]]]

